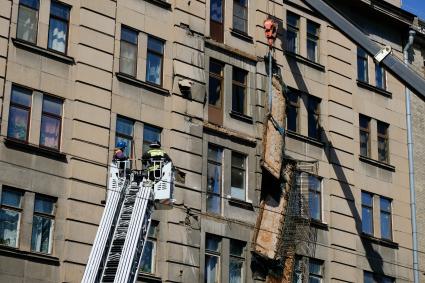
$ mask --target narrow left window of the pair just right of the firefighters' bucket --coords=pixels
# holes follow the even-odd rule
[[[221,174],[223,150],[213,145],[208,145],[207,166],[207,212],[221,212]]]

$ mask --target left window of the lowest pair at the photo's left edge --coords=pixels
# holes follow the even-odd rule
[[[18,247],[22,192],[3,187],[0,207],[0,245]]]

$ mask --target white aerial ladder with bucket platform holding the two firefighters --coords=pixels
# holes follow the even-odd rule
[[[157,170],[130,170],[129,161],[109,167],[105,209],[81,282],[136,282],[155,207],[173,203],[171,161],[155,160]]]

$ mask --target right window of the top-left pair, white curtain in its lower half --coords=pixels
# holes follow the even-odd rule
[[[70,7],[52,1],[50,3],[49,39],[47,47],[55,51],[66,53],[68,45],[68,24]]]

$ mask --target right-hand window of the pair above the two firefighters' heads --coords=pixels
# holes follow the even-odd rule
[[[148,53],[146,56],[146,81],[162,85],[162,61],[164,42],[148,36]]]

